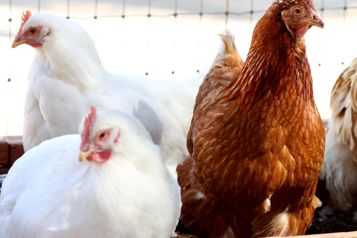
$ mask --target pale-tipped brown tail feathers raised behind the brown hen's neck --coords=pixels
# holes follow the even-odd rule
[[[196,111],[197,106],[210,92],[230,82],[243,66],[241,55],[234,44],[234,35],[229,29],[225,29],[225,33],[218,36],[222,44],[210,71],[199,86],[193,111]]]

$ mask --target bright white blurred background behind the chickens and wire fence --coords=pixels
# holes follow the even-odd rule
[[[272,0],[0,0],[0,136],[21,135],[27,74],[34,49],[11,48],[21,12],[50,13],[80,24],[111,73],[185,80],[210,68],[225,27],[242,58]],[[306,34],[314,96],[331,116],[335,80],[357,57],[357,0],[314,0],[325,28]]]

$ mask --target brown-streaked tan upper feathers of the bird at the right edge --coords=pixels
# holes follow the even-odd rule
[[[331,128],[350,150],[357,137],[357,58],[337,79],[331,93]]]

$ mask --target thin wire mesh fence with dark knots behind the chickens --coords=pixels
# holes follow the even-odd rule
[[[165,14],[165,15],[158,15],[158,14],[153,14],[152,12],[152,0],[147,0],[147,13],[146,14],[127,14],[126,12],[126,7],[128,2],[126,0],[123,0],[123,4],[122,4],[122,12],[118,13],[118,14],[108,14],[108,15],[100,15],[98,14],[98,6],[101,4],[100,1],[95,0],[95,8],[94,8],[94,12],[93,15],[87,16],[87,17],[78,17],[78,16],[73,16],[71,15],[71,0],[67,0],[67,18],[68,19],[79,19],[79,20],[87,20],[87,19],[94,19],[95,23],[94,23],[94,42],[96,42],[96,32],[97,32],[97,20],[100,18],[113,18],[113,17],[117,17],[117,18],[122,18],[122,40],[121,40],[121,45],[122,48],[124,47],[124,38],[125,38],[125,30],[124,30],[124,26],[126,24],[125,19],[126,18],[134,18],[134,17],[147,17],[147,27],[148,27],[148,34],[146,36],[146,62],[150,62],[150,46],[151,46],[151,39],[150,39],[150,32],[151,32],[151,27],[152,26],[152,21],[151,19],[153,17],[156,18],[170,18],[173,17],[174,18],[174,28],[176,29],[177,27],[177,18],[179,18],[180,16],[198,16],[199,19],[199,29],[198,29],[198,35],[199,35],[199,39],[198,39],[198,44],[197,44],[197,55],[200,54],[201,51],[201,44],[202,44],[202,39],[201,39],[201,35],[202,35],[202,19],[204,16],[223,16],[224,17],[224,24],[225,26],[227,26],[230,17],[233,16],[247,16],[247,18],[249,19],[249,21],[252,23],[253,22],[253,17],[254,14],[262,14],[265,12],[265,10],[254,10],[255,7],[255,2],[254,0],[250,0],[250,10],[248,11],[232,11],[231,10],[231,6],[230,6],[230,1],[226,0],[225,1],[225,11],[210,11],[210,12],[204,12],[203,11],[203,0],[199,0],[199,12],[178,12],[178,5],[179,5],[179,1],[180,0],[174,0],[174,7],[172,9],[172,13],[169,14]],[[317,1],[315,0],[315,3]],[[65,2],[66,4],[66,2]],[[206,3],[208,4],[208,3]],[[9,22],[9,47],[11,47],[11,41],[12,41],[12,28],[11,28],[11,22],[13,21],[13,19],[11,18],[12,16],[12,0],[9,0],[9,18],[8,19],[4,19],[1,20],[0,19],[0,23]],[[37,11],[38,13],[42,12],[41,9],[41,0],[37,1]],[[335,11],[339,11],[339,10],[343,10],[343,22],[346,22],[346,12],[348,9],[357,9],[357,6],[348,6],[347,0],[344,0],[344,4],[341,7],[326,7],[325,6],[325,1],[321,0],[321,4],[320,7],[317,9],[320,13],[321,16],[323,17],[324,12],[326,10],[335,10]],[[19,20],[20,18],[17,18],[16,20]],[[175,49],[176,46],[176,36],[173,37],[173,42],[172,42],[173,48]],[[346,47],[346,46],[343,46]],[[174,51],[175,52],[175,51]],[[8,53],[8,58],[9,58],[9,62],[11,62],[11,50],[9,50]],[[342,64],[344,64],[344,62],[342,62]],[[320,65],[320,64],[319,64]],[[197,67],[196,72],[200,72],[199,67]],[[150,74],[150,67],[148,66],[148,63],[146,65],[146,69],[145,69],[145,73],[146,76]],[[175,65],[172,66],[172,71],[171,74],[175,74]],[[10,67],[10,63],[9,63],[9,69],[8,69],[8,77],[5,79],[1,79],[1,80],[7,80],[9,82],[9,84],[12,82],[12,78],[11,78],[11,67]],[[9,89],[10,92],[10,89]],[[10,94],[8,96],[8,111],[10,111]],[[9,114],[9,113],[8,113]],[[8,119],[8,124],[9,124],[9,119]],[[9,125],[7,125],[7,134],[9,132]]]

